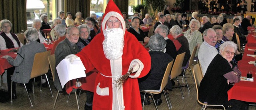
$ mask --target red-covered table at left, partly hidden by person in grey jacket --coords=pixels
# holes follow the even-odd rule
[[[46,44],[46,43],[43,43],[44,44],[44,47],[46,48],[46,50],[52,50],[52,47],[53,47],[53,44],[50,43],[49,45]],[[12,65],[10,65],[8,63],[8,61],[6,59],[3,59],[1,58],[2,56],[4,55],[9,55],[11,56],[13,59],[16,58],[17,56],[17,52],[14,51],[14,50],[17,50],[18,48],[11,48],[11,49],[4,49],[4,50],[1,50],[0,52],[0,75],[2,75],[4,73],[4,70],[5,69],[8,69],[10,67],[12,67]]]

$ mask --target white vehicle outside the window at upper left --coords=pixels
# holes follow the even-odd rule
[[[43,10],[45,8],[44,3],[40,0],[27,0],[26,15],[27,15],[27,27],[32,27],[33,20],[40,19],[34,10]]]

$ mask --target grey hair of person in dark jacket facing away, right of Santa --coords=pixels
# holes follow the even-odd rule
[[[164,51],[164,48],[166,47],[166,41],[164,40],[164,37],[160,34],[155,34],[150,37],[150,40],[148,41],[149,50],[150,51]]]

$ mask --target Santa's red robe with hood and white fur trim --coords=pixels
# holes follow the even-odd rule
[[[123,55],[117,60],[107,59],[102,45],[106,21],[111,16],[121,21],[124,30]],[[104,27],[101,28],[102,32],[96,35],[81,52],[76,54],[82,60],[86,73],[94,68],[99,71],[95,81],[92,108],[94,110],[142,110],[137,78],[144,77],[150,71],[150,55],[136,37],[126,31],[122,14],[112,0],[108,2],[106,7],[102,27]],[[117,88],[114,84],[115,80],[118,76],[125,75],[129,71],[130,63],[134,59],[138,61],[140,69],[130,75],[120,88]]]

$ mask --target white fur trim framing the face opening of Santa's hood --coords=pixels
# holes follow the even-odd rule
[[[102,21],[102,24],[101,24],[101,27],[102,27],[103,32],[104,32],[104,30],[106,29],[106,22],[107,22],[107,20],[108,20],[111,16],[116,17],[116,18],[118,18],[118,20],[121,21],[121,26],[122,26],[122,29],[124,30],[124,33],[125,33],[126,27],[125,27],[124,18],[123,18],[123,16],[120,15],[118,12],[108,12],[108,13],[106,14],[106,16],[104,17],[104,19],[103,19],[103,21]],[[104,34],[105,34],[105,33],[104,33]]]

